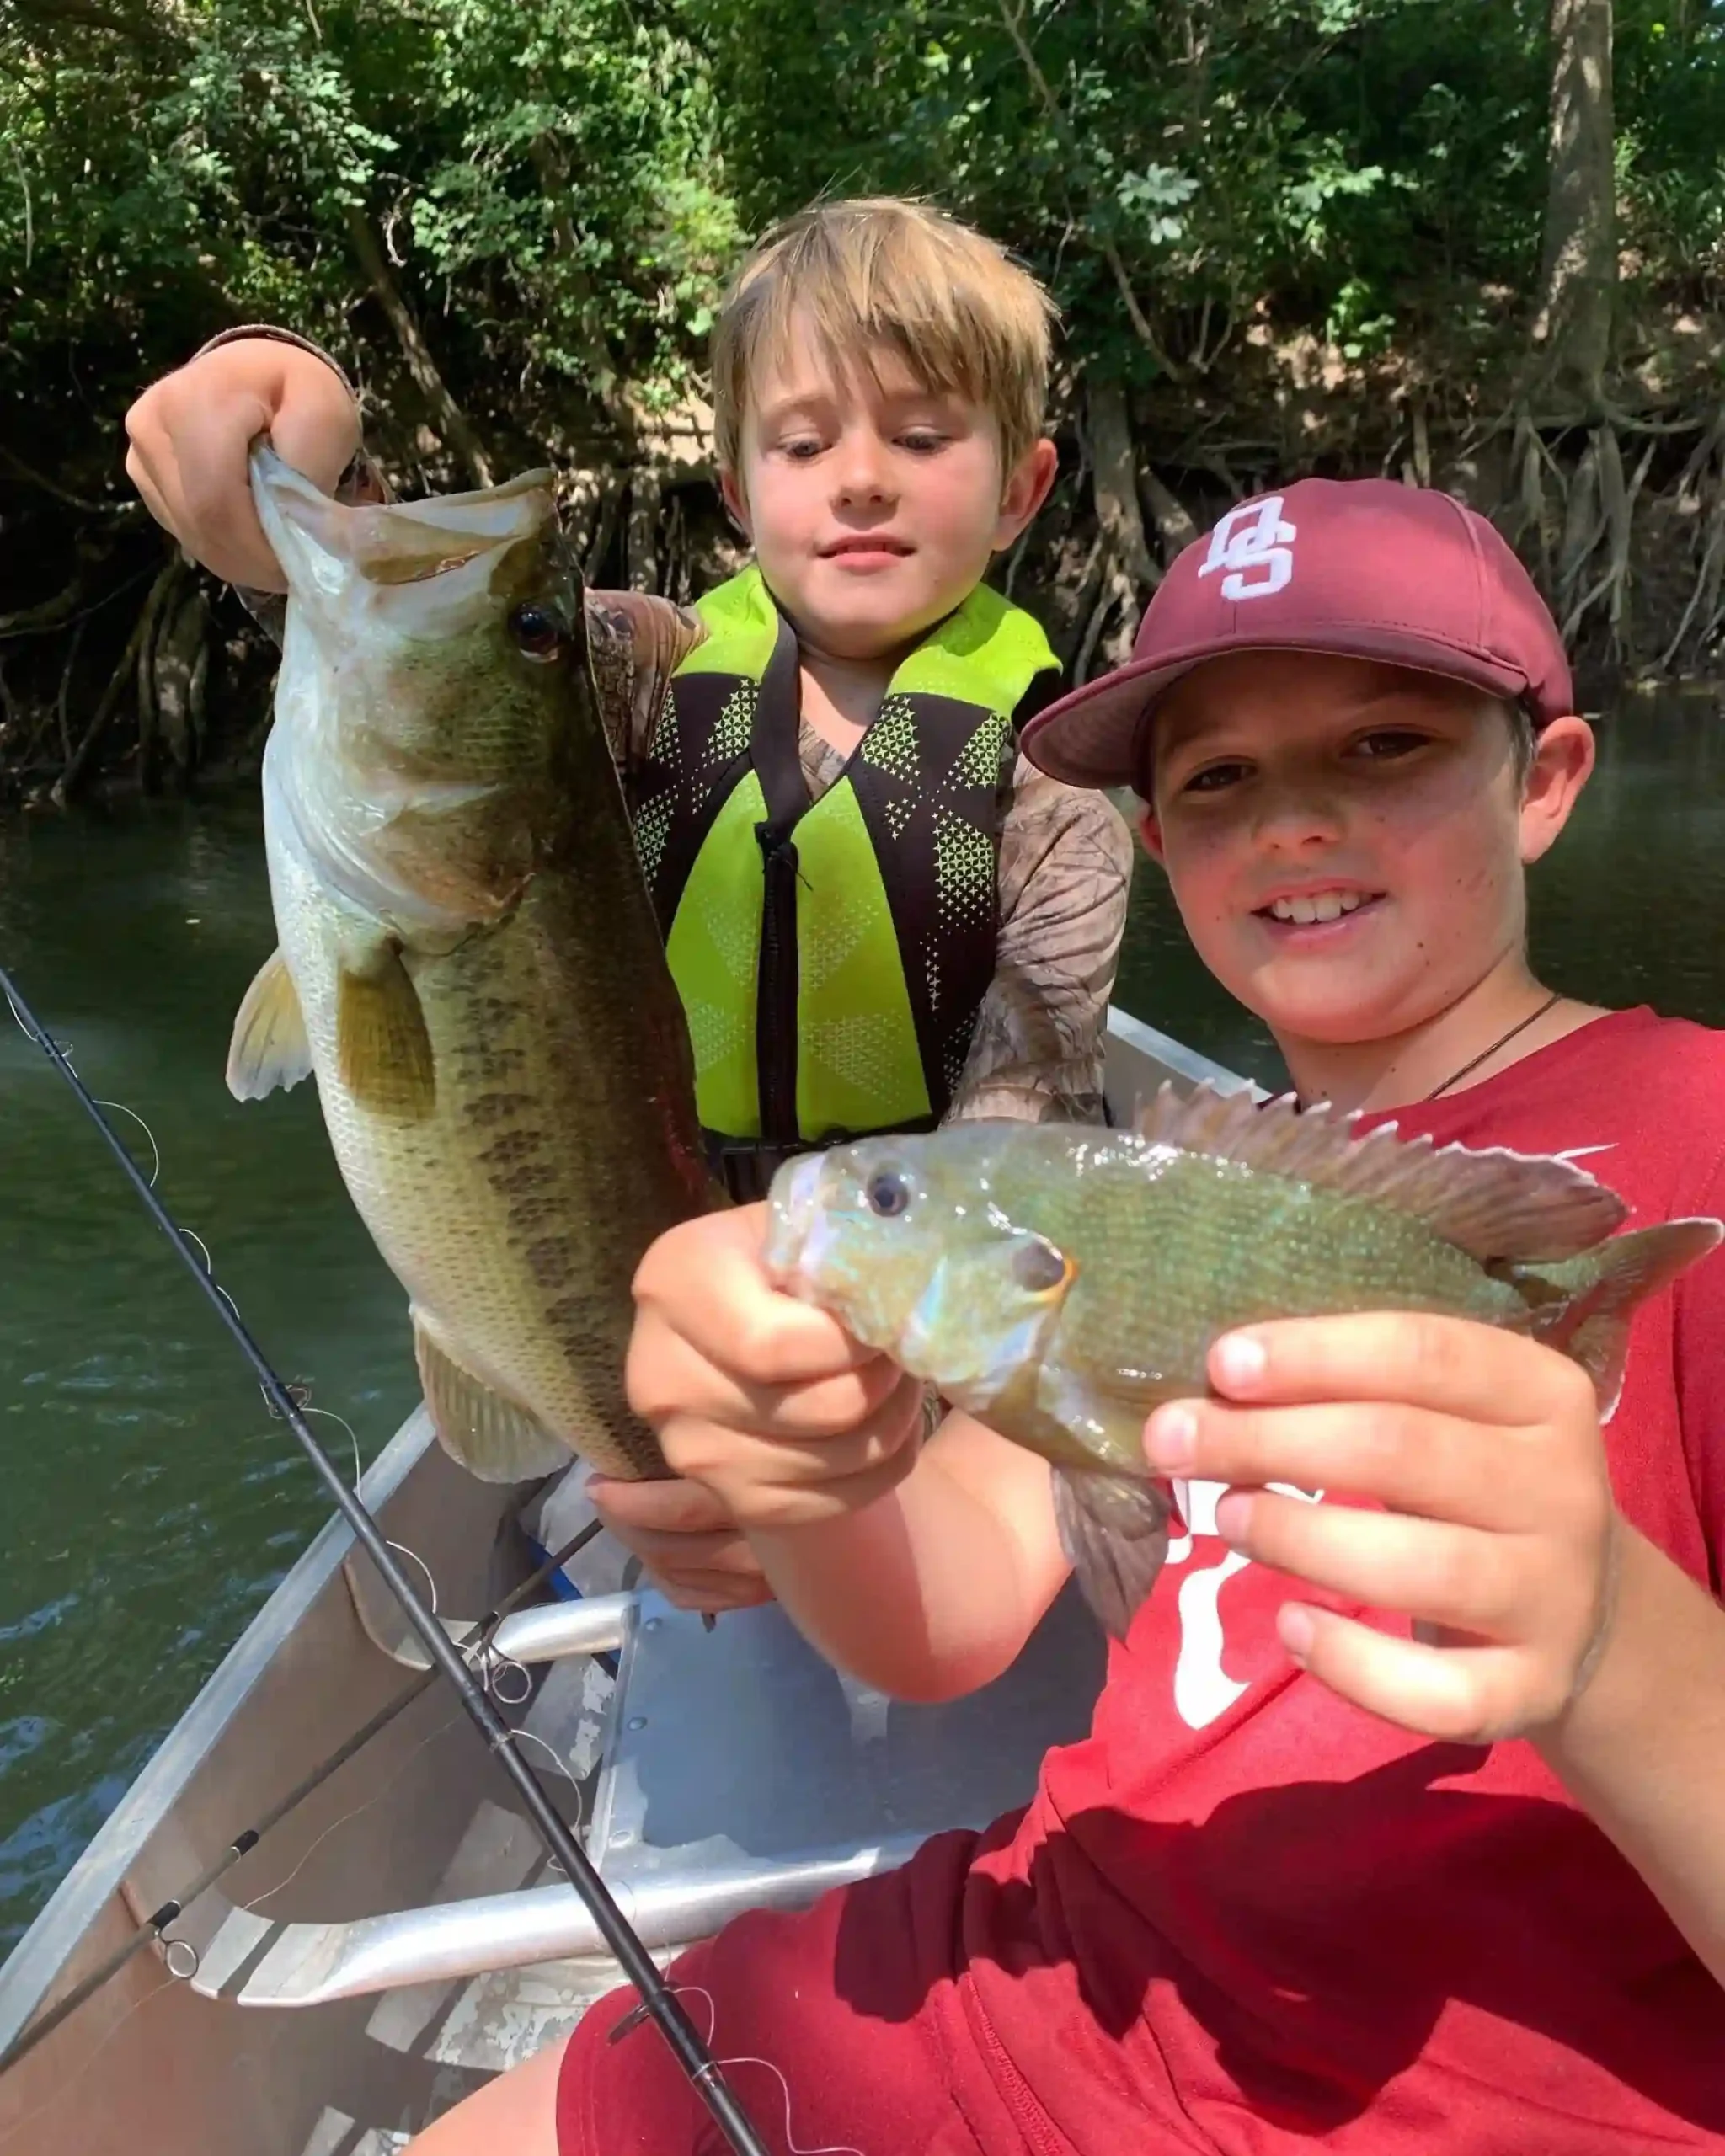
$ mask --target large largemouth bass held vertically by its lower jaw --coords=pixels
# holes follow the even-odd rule
[[[623,1397],[630,1281],[712,1190],[550,472],[347,509],[257,451],[252,494],[289,582],[280,949],[229,1087],[317,1076],[446,1451],[664,1475]]]

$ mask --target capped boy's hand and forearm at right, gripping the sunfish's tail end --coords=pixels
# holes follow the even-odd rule
[[[1697,1287],[1708,1268],[1725,1257]],[[1149,1419],[1151,1466],[1231,1483],[1216,1531],[1242,1554],[1414,1619],[1408,1639],[1287,1602],[1294,1660],[1421,1736],[1529,1738],[1725,1984],[1725,1611],[1617,1509],[1583,1371],[1488,1326],[1378,1313],[1253,1326],[1212,1348],[1210,1380]]]

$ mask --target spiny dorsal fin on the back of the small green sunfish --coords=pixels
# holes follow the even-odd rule
[[[1404,1141],[1395,1123],[1356,1138],[1356,1121],[1326,1106],[1300,1112],[1292,1093],[1259,1108],[1251,1093],[1199,1087],[1182,1097],[1164,1084],[1138,1136],[1414,1214],[1481,1266],[1576,1257],[1628,1214],[1615,1190],[1568,1160]]]

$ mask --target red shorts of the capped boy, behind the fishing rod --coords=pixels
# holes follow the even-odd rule
[[[1035,2126],[1016,2115],[979,2050],[960,1975],[975,1854],[975,1835],[942,1835],[901,1871],[804,1915],[740,1917],[673,1966],[684,2009],[774,2156],[1070,2150],[1041,2113]],[[636,2022],[610,2042],[634,2005],[634,1992],[612,1992],[576,2029],[556,2091],[558,2156],[724,2156],[658,2029]]]

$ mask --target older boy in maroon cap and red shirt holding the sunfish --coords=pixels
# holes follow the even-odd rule
[[[1591,765],[1557,632],[1438,494],[1302,481],[1031,729],[1145,841],[1302,1100],[1725,1205],[1725,1037],[1550,996],[1522,873]],[[903,1697],[1063,1578],[1048,1470],[776,1296],[759,1212],[666,1235],[632,1388],[798,1623]],[[1188,1535],[1035,1798],[675,1981],[774,2150],[1725,2150],[1725,1259],[1643,1307],[1600,1429],[1559,1354],[1421,1315],[1223,1339],[1147,1423]],[[1350,1503],[1322,1503],[1348,1492]],[[630,1999],[416,2156],[718,2147]],[[753,2063],[746,2063],[753,2061]],[[761,2061],[768,2061],[765,2065]],[[774,2081],[783,2074],[783,2091]]]

